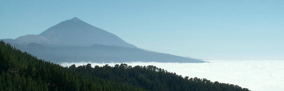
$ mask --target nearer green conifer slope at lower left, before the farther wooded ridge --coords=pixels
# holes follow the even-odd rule
[[[33,45],[33,44],[31,44]],[[76,67],[77,68],[77,67]],[[0,41],[0,91],[146,91],[37,59]]]

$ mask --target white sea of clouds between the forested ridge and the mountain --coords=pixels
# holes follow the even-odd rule
[[[208,60],[206,60],[208,61]],[[86,65],[91,62],[61,63],[62,66]],[[229,83],[248,88],[252,91],[283,91],[284,61],[246,60],[220,61],[208,63],[160,63],[160,62],[125,62],[128,66],[153,65],[190,78],[206,78],[212,82]],[[92,66],[115,66],[121,63],[91,63]]]

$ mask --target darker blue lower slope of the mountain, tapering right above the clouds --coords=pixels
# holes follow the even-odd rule
[[[31,43],[27,46],[19,46],[18,49],[28,51],[38,58],[51,60],[52,62],[183,62],[201,63],[196,59],[188,59],[170,54],[149,52],[143,49],[109,46],[95,44],[89,47],[43,47]]]

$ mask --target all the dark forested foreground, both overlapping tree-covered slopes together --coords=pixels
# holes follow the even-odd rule
[[[156,66],[62,67],[0,41],[0,91],[249,91]]]

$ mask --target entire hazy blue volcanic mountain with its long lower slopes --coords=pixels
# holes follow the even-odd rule
[[[139,49],[118,36],[74,17],[39,35],[2,39],[52,62],[205,62]]]

